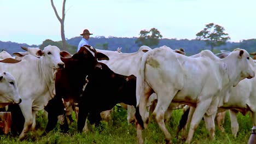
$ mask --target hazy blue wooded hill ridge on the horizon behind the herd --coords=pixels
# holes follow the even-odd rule
[[[77,45],[82,37],[74,37],[67,39],[67,43],[72,45],[77,49]],[[122,52],[136,52],[139,49],[139,46],[135,44],[137,38],[117,38],[117,37],[91,37],[90,45],[94,46],[96,49],[107,49],[107,50],[117,50],[118,47],[122,47]],[[209,46],[206,46],[205,41],[200,40],[188,40],[188,39],[160,39],[159,45],[152,46],[152,49],[166,45],[172,49],[183,48],[186,52],[186,55],[194,55],[199,53],[201,50],[210,49]],[[23,51],[20,46],[27,47],[39,47],[40,45],[27,45],[27,44],[18,44],[11,41],[3,42],[0,41],[0,50],[6,50],[9,53]],[[214,52],[219,52],[219,50],[229,50],[232,51],[235,48],[240,47],[241,49],[246,49],[248,52],[256,51],[256,39],[243,40],[241,43],[232,43],[228,42],[226,45],[215,47]],[[61,47],[60,47],[61,49]]]

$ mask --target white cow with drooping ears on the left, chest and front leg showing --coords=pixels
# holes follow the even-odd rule
[[[18,83],[22,99],[19,106],[25,118],[20,140],[24,139],[29,128],[34,130],[36,127],[36,112],[43,110],[55,96],[55,74],[57,69],[65,66],[60,57],[70,56],[68,52],[51,45],[37,54],[41,57],[26,55],[18,63],[0,63],[0,70],[9,71]]]

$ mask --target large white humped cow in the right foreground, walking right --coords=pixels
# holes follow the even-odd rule
[[[220,59],[211,51],[200,52],[200,57],[180,55],[168,49],[154,49],[142,57],[136,85],[136,129],[138,142],[143,143],[142,128],[147,126],[146,104],[150,94],[156,93],[158,104],[153,112],[156,122],[165,134],[167,143],[171,135],[165,127],[164,114],[171,104],[181,103],[195,106],[186,142],[190,143],[194,131],[205,115],[214,125],[218,97],[238,82],[254,77],[254,63],[246,50],[236,49],[226,58]],[[140,113],[140,114],[139,114]],[[212,128],[207,125],[207,128]],[[213,129],[210,131],[214,137]]]

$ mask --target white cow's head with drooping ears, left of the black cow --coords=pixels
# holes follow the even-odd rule
[[[61,61],[61,57],[71,57],[71,54],[66,51],[60,51],[59,47],[48,45],[44,50],[39,50],[36,53],[39,57],[44,57],[46,65],[54,69],[62,69],[65,64]]]

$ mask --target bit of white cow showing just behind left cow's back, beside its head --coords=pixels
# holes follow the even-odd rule
[[[40,51],[40,49],[38,47],[24,47],[21,46],[21,49],[25,50],[26,52],[14,52],[13,55],[15,55],[15,59],[17,60],[21,60],[22,57],[26,56],[26,55],[32,55],[35,57],[39,57],[37,55],[37,52]]]

